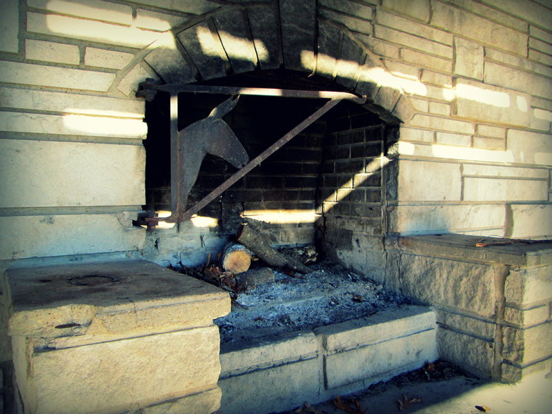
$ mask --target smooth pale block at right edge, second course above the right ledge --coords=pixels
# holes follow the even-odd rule
[[[464,178],[466,201],[548,201],[547,181],[506,178]]]

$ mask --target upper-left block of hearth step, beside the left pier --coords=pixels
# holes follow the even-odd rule
[[[314,333],[299,333],[265,339],[260,343],[242,346],[226,345],[221,349],[221,377],[233,377],[274,364],[295,362],[315,357],[318,342]]]

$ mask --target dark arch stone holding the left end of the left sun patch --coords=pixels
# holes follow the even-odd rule
[[[204,79],[226,75],[226,55],[218,36],[215,38],[206,22],[179,32],[178,39]]]

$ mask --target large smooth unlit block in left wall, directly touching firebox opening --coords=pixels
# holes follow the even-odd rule
[[[0,148],[2,208],[144,204],[141,146],[2,139]]]

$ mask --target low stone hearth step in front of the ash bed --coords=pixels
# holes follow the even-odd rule
[[[221,411],[266,414],[362,390],[435,361],[436,331],[430,308],[404,306],[277,338],[223,344]]]

